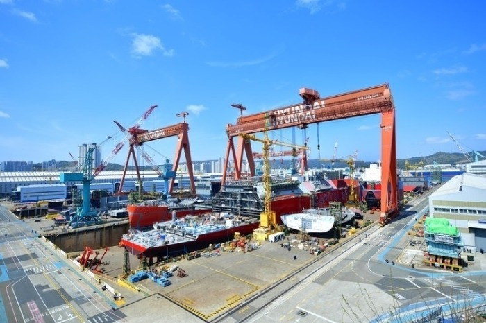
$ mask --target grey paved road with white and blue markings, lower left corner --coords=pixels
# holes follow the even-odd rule
[[[0,322],[124,321],[96,283],[4,207],[0,207],[0,297]]]

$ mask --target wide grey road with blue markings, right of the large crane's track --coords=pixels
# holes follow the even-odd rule
[[[453,274],[396,261],[427,207],[426,196],[415,200],[391,224],[353,238],[215,322],[411,322],[485,304],[484,272]]]

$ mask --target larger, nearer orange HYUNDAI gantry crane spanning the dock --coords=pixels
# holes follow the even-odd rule
[[[264,132],[264,130],[271,131],[292,127],[305,129],[313,123],[379,113],[381,114],[382,161],[380,224],[385,225],[390,218],[398,213],[395,106],[389,85],[377,85],[344,94],[328,96],[327,98],[321,98],[317,91],[305,87],[300,89],[299,94],[303,99],[302,103],[248,116],[243,116],[243,109],[240,109],[242,113],[237,119],[237,123],[226,125],[228,145],[226,147],[222,184],[226,182],[226,171],[230,155],[233,157],[233,169],[236,180],[240,180],[242,177],[241,170],[245,154],[249,164],[250,176],[255,176],[255,162],[251,152],[251,143],[240,137],[240,133],[255,134]],[[233,142],[235,137],[237,138],[237,149],[235,149],[235,143]]]

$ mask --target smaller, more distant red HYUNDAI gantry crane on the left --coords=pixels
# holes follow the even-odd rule
[[[156,105],[151,107],[151,110],[153,110],[153,108],[155,107]],[[151,112],[151,110],[149,111]],[[171,171],[167,170],[167,161],[166,161],[165,170],[160,171],[160,168],[158,168],[158,166],[155,165],[155,163],[149,157],[149,155],[147,155],[145,152],[142,152],[142,157],[144,157],[144,159],[152,166],[152,168],[156,170],[156,172],[160,177],[164,178],[165,180],[170,180],[169,188],[167,191],[169,194],[172,194],[174,189],[174,182],[176,178],[176,170],[179,164],[179,160],[181,159],[181,152],[184,149],[185,161],[187,163],[187,173],[190,177],[191,193],[192,194],[196,193],[196,185],[194,184],[194,173],[192,172],[192,159],[191,159],[191,152],[189,146],[189,136],[187,134],[187,132],[189,131],[189,125],[185,122],[185,117],[188,114],[189,113],[187,112],[181,112],[176,114],[176,116],[180,116],[183,118],[184,121],[182,123],[178,123],[176,125],[169,125],[168,127],[160,128],[152,131],[140,129],[140,124],[137,124],[134,127],[128,128],[128,130],[126,130],[117,121],[114,121],[118,125],[120,130],[126,134],[126,137],[128,137],[130,143],[130,148],[128,149],[128,155],[126,157],[123,175],[121,175],[121,182],[117,192],[118,194],[121,194],[121,191],[123,189],[123,184],[126,177],[126,171],[128,169],[128,162],[130,161],[130,156],[133,157],[133,161],[135,164],[135,171],[137,173],[137,180],[138,182],[142,182],[142,178],[140,177],[140,171],[137,164],[137,158],[135,157],[135,148],[138,149],[140,146],[142,146],[143,143],[146,143],[148,141],[154,141],[157,139],[174,137],[174,136],[178,137],[178,144],[176,147],[176,155],[174,157],[174,163],[172,164]],[[147,112],[144,114],[144,116],[148,116]]]

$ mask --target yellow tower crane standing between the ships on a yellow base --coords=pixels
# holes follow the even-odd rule
[[[277,227],[276,213],[271,211],[271,177],[270,177],[270,163],[269,163],[269,152],[271,145],[286,146],[291,148],[296,148],[299,150],[309,150],[307,146],[296,146],[290,143],[283,143],[281,141],[271,140],[268,138],[267,132],[263,132],[264,138],[259,139],[255,137],[254,134],[240,133],[240,138],[244,141],[258,141],[263,143],[263,185],[265,189],[265,209],[260,214],[260,227],[267,230],[273,230]],[[269,231],[268,231],[269,232]],[[267,233],[268,233],[267,232]]]

